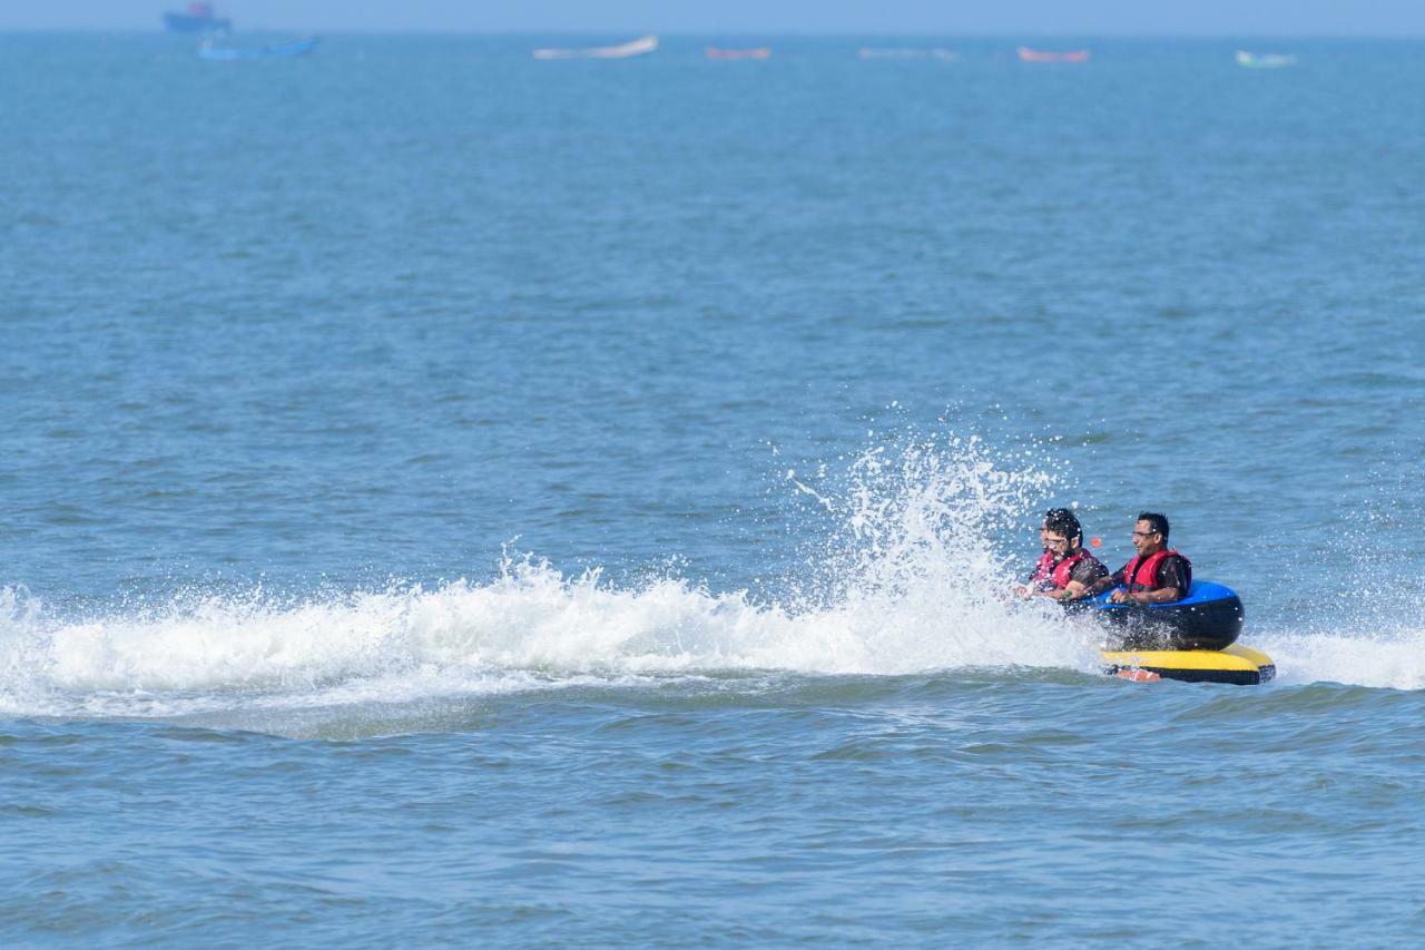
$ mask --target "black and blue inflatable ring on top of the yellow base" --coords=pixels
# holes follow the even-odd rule
[[[1110,652],[1223,650],[1243,632],[1241,599],[1210,581],[1194,581],[1187,596],[1171,603],[1110,603],[1110,595],[1082,606],[1109,626]]]

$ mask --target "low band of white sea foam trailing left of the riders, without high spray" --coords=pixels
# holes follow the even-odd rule
[[[406,702],[674,675],[908,673],[963,666],[1089,669],[1092,633],[1039,605],[902,589],[792,612],[683,581],[617,589],[519,561],[490,583],[359,592],[294,606],[209,599],[167,615],[6,629],[0,709],[175,712]]]

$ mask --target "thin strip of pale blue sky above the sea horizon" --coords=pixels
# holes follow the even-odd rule
[[[0,0],[0,30],[157,30],[187,0]],[[231,0],[238,30],[1425,37],[1425,0]]]

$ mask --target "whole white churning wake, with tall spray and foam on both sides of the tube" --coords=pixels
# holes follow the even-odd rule
[[[1093,673],[1092,623],[1002,596],[1012,561],[996,538],[1022,535],[1062,489],[1046,471],[975,438],[872,449],[839,476],[787,469],[825,526],[782,602],[677,576],[620,588],[529,555],[506,556],[487,582],[296,601],[190,591],[78,619],[3,588],[0,713],[177,716],[767,672]],[[1254,630],[1247,642],[1274,656],[1281,682],[1425,688],[1425,630]]]

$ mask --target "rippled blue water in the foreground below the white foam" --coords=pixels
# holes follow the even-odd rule
[[[1392,941],[1418,896],[1422,710],[1384,696],[771,675],[218,730],[27,723],[0,753],[26,776],[10,849],[36,847],[4,919],[219,941],[1160,943],[1233,939],[1270,907],[1268,943],[1361,914]]]

